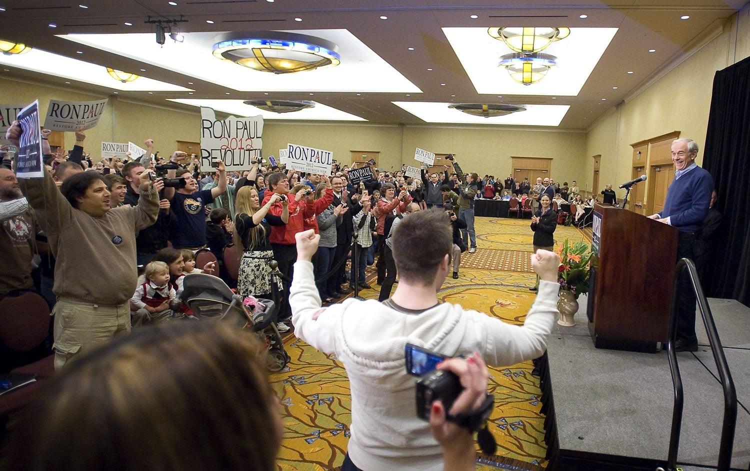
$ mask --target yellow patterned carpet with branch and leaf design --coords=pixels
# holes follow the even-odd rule
[[[523,323],[535,295],[531,270],[532,232],[528,220],[477,217],[478,249],[464,253],[458,280],[448,278],[438,297],[498,317]],[[557,244],[586,239],[574,227],[558,226]],[[377,299],[380,287],[368,267],[374,290],[360,296]],[[344,460],[351,422],[349,383],[335,358],[325,356],[294,335],[285,340],[292,360],[271,376],[284,410],[284,441],[278,469],[300,471],[337,469]],[[498,449],[496,456],[478,454],[477,469],[544,469],[544,419],[539,413],[538,379],[531,362],[510,368],[490,368],[490,392],[496,408],[490,416]]]

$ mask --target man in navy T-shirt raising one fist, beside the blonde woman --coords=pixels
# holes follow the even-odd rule
[[[205,248],[205,205],[226,191],[226,168],[223,160],[218,159],[215,165],[215,180],[218,184],[211,190],[199,191],[198,181],[189,169],[178,169],[175,172],[177,178],[184,178],[184,184],[175,191],[174,196],[167,196],[172,212],[177,217],[177,222],[170,231],[172,247],[189,248],[192,251]]]

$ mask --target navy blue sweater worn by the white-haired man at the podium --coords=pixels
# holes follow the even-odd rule
[[[667,201],[659,213],[670,217],[670,224],[683,233],[694,233],[703,227],[713,191],[713,178],[705,169],[696,166],[676,178],[667,191]]]

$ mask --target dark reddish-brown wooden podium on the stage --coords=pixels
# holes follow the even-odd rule
[[[595,347],[655,352],[668,337],[678,230],[599,204],[592,230],[586,314]]]

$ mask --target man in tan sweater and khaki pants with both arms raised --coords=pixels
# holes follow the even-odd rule
[[[5,136],[19,145],[22,133],[13,121]],[[43,178],[20,181],[56,257],[55,370],[77,354],[130,332],[135,235],[156,220],[163,186],[160,178],[152,184],[143,172],[138,205],[110,208],[110,192],[98,172],[72,175],[59,190],[46,170]]]

